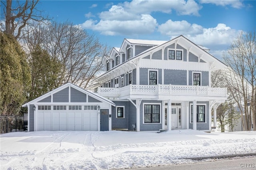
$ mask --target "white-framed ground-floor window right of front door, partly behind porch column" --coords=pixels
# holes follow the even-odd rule
[[[193,123],[193,104],[190,104],[190,123]],[[196,105],[196,123],[206,123],[206,104]]]

